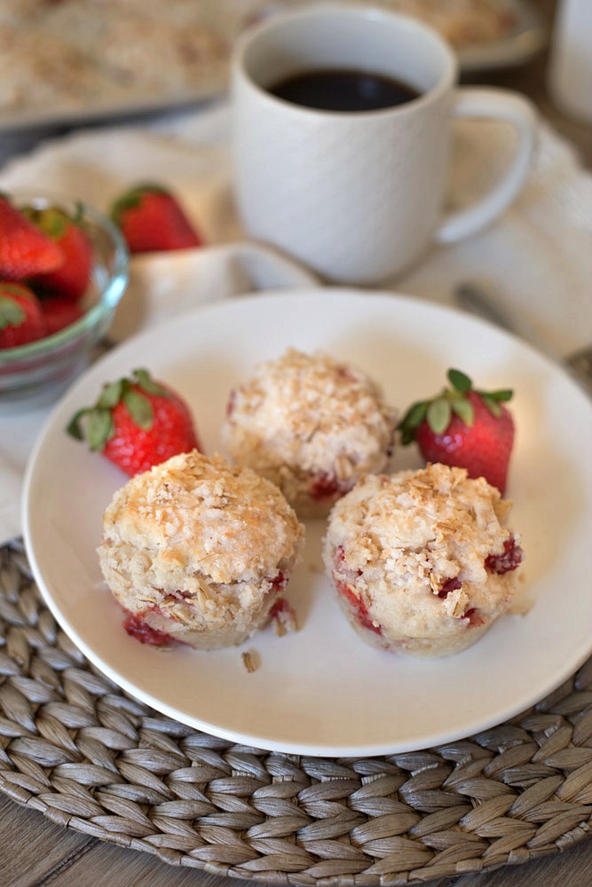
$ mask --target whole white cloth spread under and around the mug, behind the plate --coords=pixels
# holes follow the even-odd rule
[[[208,247],[138,256],[111,331],[122,340],[194,305],[315,279],[267,247],[245,242],[233,208],[228,107],[173,114],[150,125],[79,130],[17,156],[0,170],[0,189],[67,192],[106,209],[130,184],[153,180],[178,192]],[[450,203],[460,206],[499,173],[510,149],[499,124],[459,122]],[[567,352],[592,341],[592,176],[541,122],[539,150],[524,192],[489,229],[452,247],[434,247],[405,279],[382,288],[454,303],[462,280],[493,285],[538,340]],[[460,358],[459,358],[460,359]],[[0,542],[20,535],[22,477],[49,409],[0,412]]]

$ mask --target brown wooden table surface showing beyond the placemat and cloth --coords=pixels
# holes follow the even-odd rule
[[[556,0],[535,0],[552,26]],[[548,52],[523,67],[472,75],[470,82],[521,90],[530,96],[555,130],[570,140],[583,163],[592,167],[592,129],[565,117],[547,91]],[[172,867],[147,853],[130,851],[79,834],[27,810],[0,793],[0,885],[3,887],[246,887],[247,881],[209,875],[197,868]],[[461,875],[430,881],[428,887],[589,887],[592,884],[592,840],[540,860],[501,867],[488,874]]]

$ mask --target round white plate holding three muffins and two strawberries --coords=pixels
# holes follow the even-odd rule
[[[215,451],[229,390],[288,346],[323,349],[383,383],[392,404],[438,391],[458,366],[481,387],[511,386],[517,445],[511,524],[526,552],[521,602],[473,648],[431,661],[367,647],[344,623],[320,566],[322,522],[308,525],[288,585],[300,630],[271,628],[241,648],[163,652],[122,629],[95,552],[119,470],[64,432],[105,381],[149,367],[189,401]],[[392,294],[343,289],[240,296],[130,340],[94,365],[43,429],[28,466],[25,539],[54,616],[83,653],[156,710],[267,750],[378,755],[427,748],[524,710],[592,651],[592,405],[556,365],[461,312]],[[587,449],[588,448],[588,449]],[[414,449],[396,467],[419,466]],[[255,650],[249,673],[241,653]]]

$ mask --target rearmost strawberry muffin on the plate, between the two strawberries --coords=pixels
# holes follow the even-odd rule
[[[362,474],[383,471],[396,419],[374,381],[296,349],[234,389],[225,451],[276,483],[301,517],[323,517]]]

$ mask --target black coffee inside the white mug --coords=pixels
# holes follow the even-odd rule
[[[294,105],[322,111],[377,111],[403,105],[420,95],[389,75],[343,68],[290,75],[269,91]]]

